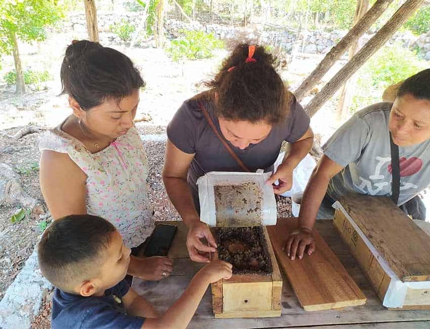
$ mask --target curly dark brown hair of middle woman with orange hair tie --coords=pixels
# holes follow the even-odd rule
[[[215,114],[228,120],[279,124],[289,113],[293,96],[274,68],[276,58],[255,46],[255,61],[247,62],[248,50],[248,44],[236,46],[214,79],[206,83],[218,95]]]

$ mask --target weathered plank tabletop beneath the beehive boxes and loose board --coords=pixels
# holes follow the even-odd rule
[[[278,221],[285,220],[288,219],[278,219]],[[181,296],[192,276],[204,265],[192,262],[188,258],[185,245],[187,237],[185,224],[173,221],[163,223],[178,225],[178,233],[168,255],[174,258],[174,271],[170,277],[158,282],[142,281],[136,278],[133,281],[133,287],[137,293],[161,312],[167,310]],[[430,226],[430,223],[425,223],[425,225]],[[318,220],[316,229],[367,297],[366,305],[338,310],[306,312],[300,307],[288,280],[283,275],[282,315],[280,317],[216,319],[212,313],[212,297],[210,289],[208,289],[188,328],[430,328],[430,310],[390,311],[382,306],[357,262],[349,253],[347,245],[341,241],[335,231],[332,220]]]

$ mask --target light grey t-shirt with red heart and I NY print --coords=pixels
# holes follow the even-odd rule
[[[388,121],[392,105],[376,103],[355,113],[323,146],[324,154],[344,167],[327,189],[334,200],[351,192],[391,196]],[[430,184],[430,140],[400,146],[399,159],[401,205]]]

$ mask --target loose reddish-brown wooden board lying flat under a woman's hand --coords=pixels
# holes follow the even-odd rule
[[[267,226],[267,230],[276,257],[300,305],[306,311],[364,305],[366,297],[317,230],[314,230],[315,253],[301,260],[290,260],[282,247],[289,232],[296,227],[296,218],[278,219],[277,225]]]

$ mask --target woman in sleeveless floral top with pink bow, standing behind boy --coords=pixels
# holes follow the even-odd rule
[[[124,54],[74,40],[61,65],[61,83],[73,114],[39,142],[40,187],[49,210],[54,219],[106,218],[136,254],[154,229],[148,160],[133,121],[145,82]],[[159,280],[172,266],[164,257],[132,256],[128,274]]]

